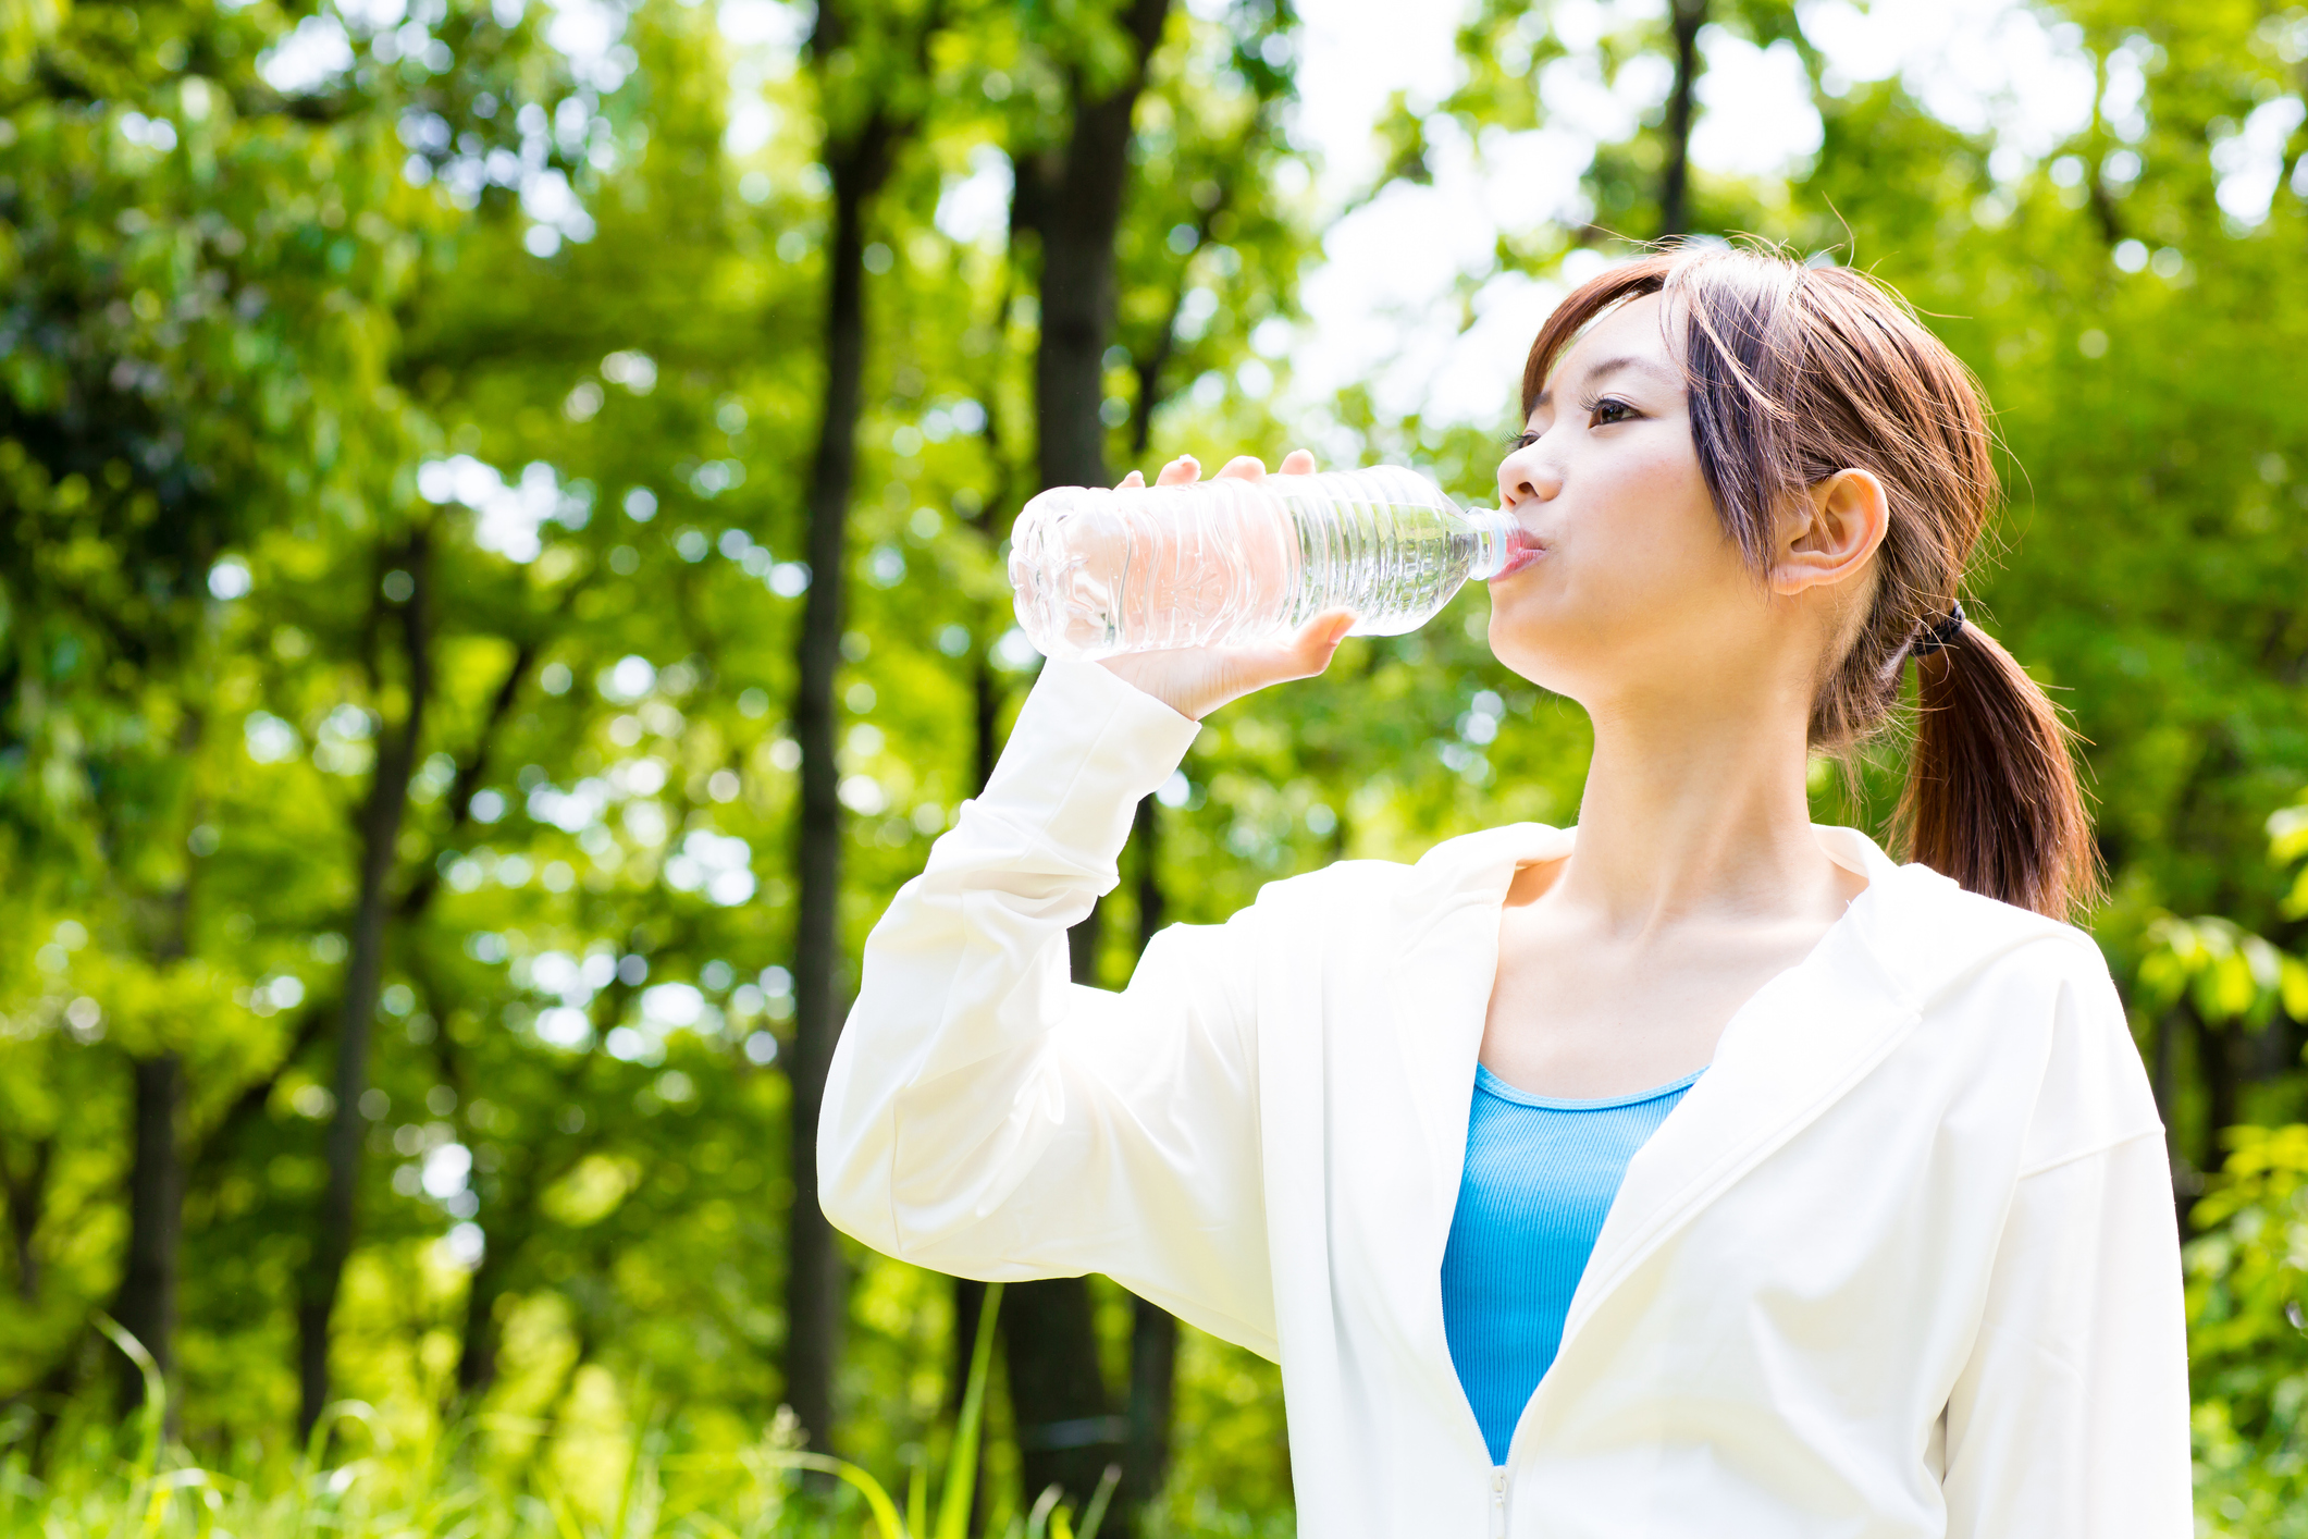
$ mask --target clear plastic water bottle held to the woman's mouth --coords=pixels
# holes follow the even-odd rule
[[[1050,487],[1018,515],[1018,625],[1046,658],[1290,635],[1325,609],[1357,637],[1431,621],[1521,554],[1505,512],[1461,512],[1415,471],[1221,475],[1184,487]]]

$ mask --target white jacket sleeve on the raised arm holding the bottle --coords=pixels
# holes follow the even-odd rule
[[[819,1198],[889,1255],[986,1281],[1103,1271],[1274,1357],[1258,909],[1163,930],[1122,994],[1066,971],[1066,928],[1196,731],[1103,667],[1043,667],[986,794],[865,941]]]

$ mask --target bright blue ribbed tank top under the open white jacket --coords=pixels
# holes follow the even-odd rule
[[[1442,1334],[1493,1465],[1507,1463],[1514,1424],[1556,1361],[1627,1161],[1696,1078],[1553,1101],[1475,1066],[1466,1174],[1442,1251]]]

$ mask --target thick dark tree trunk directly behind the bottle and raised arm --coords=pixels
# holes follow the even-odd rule
[[[1016,157],[1020,224],[1041,238],[1041,346],[1034,353],[1034,455],[1043,487],[1096,487],[1106,464],[1106,344],[1115,321],[1115,233],[1129,187],[1131,115],[1161,42],[1170,0],[1129,0],[1122,23],[1138,46],[1131,76],[1089,97],[1076,74],[1073,129],[1055,155]],[[1099,911],[1069,934],[1073,976],[1096,983]],[[1002,1345],[1025,1497],[1057,1484],[1080,1507],[1106,1465],[1124,1458],[1099,1371],[1099,1338],[1082,1278],[1013,1283],[1002,1297]]]

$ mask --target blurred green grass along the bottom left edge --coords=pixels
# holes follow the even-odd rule
[[[111,1320],[104,1334],[141,1371],[143,1407],[118,1435],[85,1435],[35,1479],[21,1449],[0,1456],[0,1534],[42,1539],[974,1539],[969,1534],[986,1380],[1002,1287],[986,1290],[969,1382],[944,1470],[912,1465],[900,1504],[868,1470],[796,1444],[792,1419],[732,1451],[679,1451],[665,1424],[642,1428],[616,1497],[582,1504],[542,1465],[519,1484],[475,1467],[473,1437],[452,1431],[395,1447],[362,1403],[330,1405],[293,1458],[247,1456],[235,1467],[189,1463],[166,1442],[168,1387],[143,1345]],[[351,1433],[365,1431],[367,1437]],[[332,1444],[367,1454],[328,1461]],[[226,1461],[228,1463],[228,1461]],[[815,1477],[815,1479],[810,1479]],[[979,1539],[1096,1539],[1119,1470],[1080,1518],[1052,1486],[1002,1534]],[[935,1507],[932,1507],[932,1484]],[[1232,1530],[1235,1525],[1226,1525]],[[1242,1532],[1242,1530],[1235,1530]]]

